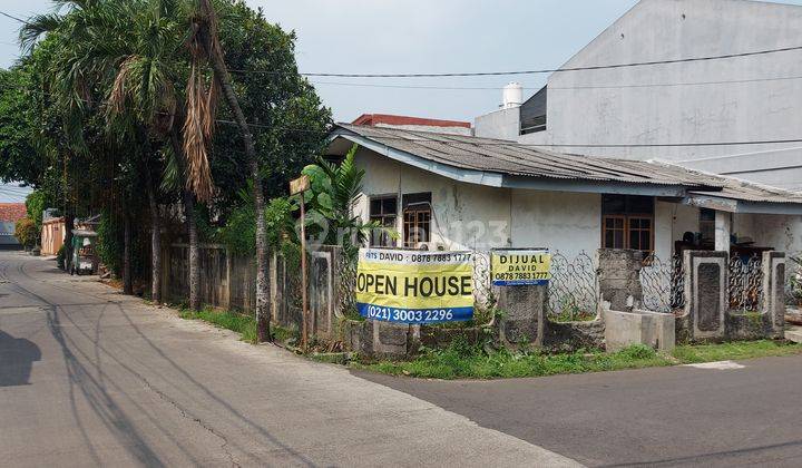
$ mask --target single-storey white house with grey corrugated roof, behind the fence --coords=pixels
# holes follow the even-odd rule
[[[356,214],[399,234],[374,233],[375,246],[549,247],[566,255],[613,247],[664,260],[683,248],[802,250],[802,240],[784,235],[802,228],[795,193],[676,165],[345,124],[332,130],[329,155],[343,156],[353,144],[365,170]]]

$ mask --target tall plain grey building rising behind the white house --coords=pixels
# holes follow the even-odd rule
[[[800,31],[799,6],[643,0],[560,68],[796,48]],[[802,50],[555,72],[519,108],[477,118],[476,135],[802,189],[802,142],[659,146],[802,139]]]

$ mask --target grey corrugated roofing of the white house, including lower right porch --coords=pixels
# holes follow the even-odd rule
[[[654,160],[555,153],[517,142],[338,124],[390,148],[456,168],[501,175],[682,186],[691,194],[745,202],[802,203],[802,194]]]

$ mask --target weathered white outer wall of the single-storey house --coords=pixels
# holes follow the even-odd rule
[[[369,197],[431,192],[434,215],[430,250],[549,247],[568,257],[593,254],[602,244],[599,194],[492,188],[463,184],[407,166],[368,149],[356,164],[365,169],[355,214],[369,218]],[[676,237],[675,205],[655,207],[655,245],[669,257]],[[694,220],[698,214],[692,213]],[[397,230],[401,232],[401,220]],[[693,231],[696,231],[694,228]]]

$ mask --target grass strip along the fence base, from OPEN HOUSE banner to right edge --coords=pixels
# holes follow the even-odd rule
[[[643,344],[635,344],[614,353],[578,351],[567,354],[545,354],[537,350],[511,352],[506,349],[488,353],[481,347],[457,341],[443,350],[424,350],[423,354],[412,361],[352,362],[351,365],[392,376],[492,379],[639,369],[798,353],[802,353],[802,345],[769,340],[683,345],[671,355],[657,353]]]

